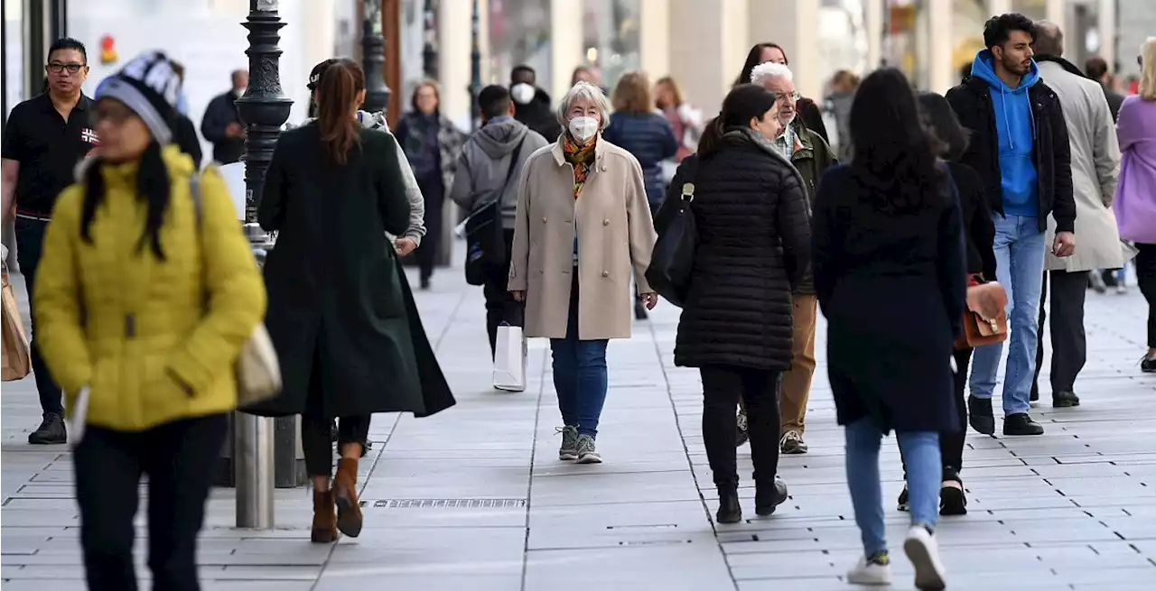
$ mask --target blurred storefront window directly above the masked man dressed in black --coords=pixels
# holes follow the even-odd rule
[[[507,84],[520,65],[534,68],[539,88],[550,88],[555,75],[570,75],[551,68],[549,2],[490,0],[489,13],[490,83]]]

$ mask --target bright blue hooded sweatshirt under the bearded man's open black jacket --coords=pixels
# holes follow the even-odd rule
[[[1032,149],[1036,143],[1036,120],[1031,113],[1028,89],[1039,82],[1039,68],[1031,69],[1010,88],[995,75],[991,50],[983,50],[971,62],[971,75],[992,87],[992,107],[999,135],[1000,175],[1003,185],[1003,214],[1039,216],[1039,186]]]

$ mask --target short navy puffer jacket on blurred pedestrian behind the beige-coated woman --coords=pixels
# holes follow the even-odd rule
[[[606,141],[625,149],[638,159],[646,185],[646,201],[653,211],[662,203],[662,160],[679,151],[674,128],[658,113],[624,113],[610,115],[610,126],[602,132]]]

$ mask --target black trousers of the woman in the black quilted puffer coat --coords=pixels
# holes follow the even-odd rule
[[[698,372],[703,377],[703,443],[714,486],[739,486],[734,406],[740,398],[747,406],[755,484],[771,485],[779,469],[779,372],[728,366],[702,367]]]

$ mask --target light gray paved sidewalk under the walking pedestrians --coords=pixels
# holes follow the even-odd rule
[[[21,285],[16,292],[23,296]],[[1037,409],[1047,429],[1039,437],[969,436],[970,514],[939,530],[951,589],[1153,589],[1156,377],[1136,366],[1146,305],[1139,293],[1088,298],[1083,406]],[[790,501],[754,518],[744,447],[749,518],[716,529],[697,373],[672,361],[676,308],[660,304],[632,339],[612,343],[599,437],[606,463],[575,465],[556,455],[547,343],[529,345],[526,392],[495,391],[481,290],[449,269],[417,299],[458,405],[427,419],[375,417],[357,539],[310,544],[305,489],[277,491],[276,530],[234,530],[232,492],[215,491],[200,546],[206,590],[847,589],[840,577],[859,553],[859,533],[822,326],[810,454],[780,462]],[[25,443],[39,422],[34,389],[31,380],[0,386],[0,588],[82,590],[69,455]],[[884,450],[895,589],[911,589],[899,552],[906,516],[894,506],[902,470],[895,444]],[[147,578],[143,543],[138,548]]]

